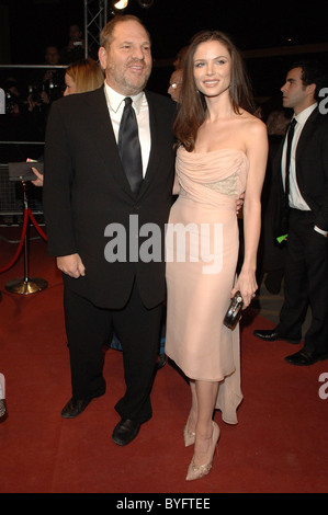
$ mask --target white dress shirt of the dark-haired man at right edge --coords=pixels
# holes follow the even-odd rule
[[[299,209],[303,211],[309,211],[310,208],[301,195],[297,180],[296,180],[296,149],[297,149],[297,144],[299,140],[301,133],[303,130],[303,127],[305,123],[307,122],[307,118],[312,115],[314,110],[316,108],[317,103],[310,105],[306,110],[302,111],[297,115],[294,115],[294,118],[296,119],[296,125],[294,129],[294,137],[292,141],[292,150],[291,150],[291,167],[290,167],[290,196],[289,196],[289,202],[290,202],[290,207],[293,209]],[[287,139],[287,138],[286,138]],[[281,171],[282,171],[282,181],[283,181],[283,186],[285,187],[285,162],[286,162],[286,139],[282,152],[282,161],[281,161]],[[315,230],[320,232],[321,234],[327,234],[326,231],[319,229],[318,227],[315,226]]]

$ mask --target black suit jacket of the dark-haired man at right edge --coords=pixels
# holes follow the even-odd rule
[[[287,232],[281,173],[283,142],[274,160],[276,214],[274,238]],[[314,224],[328,231],[328,117],[318,107],[308,117],[296,148],[296,180],[299,192],[314,214]]]

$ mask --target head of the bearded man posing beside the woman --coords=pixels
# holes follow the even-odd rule
[[[151,71],[150,42],[138,22],[120,22],[108,48],[99,49],[99,60],[106,81],[113,90],[125,96],[144,90]]]

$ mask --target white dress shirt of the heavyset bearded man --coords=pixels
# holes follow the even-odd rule
[[[124,99],[126,95],[122,95],[114,91],[105,81],[104,83],[105,89],[105,96],[109,106],[109,113],[111,116],[114,135],[116,138],[116,142],[118,140],[118,130],[120,130],[120,123],[124,110]],[[148,110],[148,102],[144,91],[138,93],[137,95],[131,95],[132,105],[135,110],[137,124],[138,124],[138,131],[139,131],[139,141],[142,148],[142,160],[143,160],[143,175],[145,176],[148,161],[149,161],[149,153],[150,153],[150,124],[149,124],[149,110]]]

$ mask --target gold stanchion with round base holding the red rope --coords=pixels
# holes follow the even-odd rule
[[[24,211],[29,213],[29,195],[30,187],[27,182],[22,181],[23,195],[24,195]],[[30,295],[42,291],[48,286],[47,281],[39,277],[29,277],[29,243],[30,243],[30,228],[26,227],[24,238],[24,277],[9,281],[5,284],[5,289],[11,294]]]

